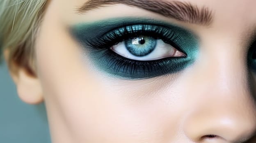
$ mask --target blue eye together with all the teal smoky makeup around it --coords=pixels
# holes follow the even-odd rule
[[[145,79],[174,74],[192,65],[199,50],[199,39],[187,29],[152,19],[101,20],[73,25],[70,31],[95,68],[121,79]],[[121,51],[126,50],[135,58],[112,50],[120,43],[126,47]],[[159,47],[165,49],[162,52],[173,48],[182,56],[162,56],[165,53],[161,53]]]

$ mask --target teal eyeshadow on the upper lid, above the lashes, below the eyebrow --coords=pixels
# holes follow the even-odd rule
[[[80,37],[76,39],[78,40],[78,42],[82,43],[82,45],[95,47],[94,45],[97,45],[96,43],[97,41],[95,40],[99,40],[103,38],[105,34],[109,32],[113,32],[113,30],[115,29],[118,29],[120,27],[125,27],[128,25],[153,25],[155,27],[156,26],[164,27],[166,29],[170,29],[171,31],[176,32],[176,35],[181,34],[181,37],[182,36],[187,37],[187,35],[189,35],[190,38],[197,39],[197,42],[200,43],[198,36],[194,34],[192,31],[190,31],[189,29],[187,29],[186,27],[181,27],[174,23],[169,23],[161,20],[148,19],[148,18],[133,18],[133,17],[110,18],[110,19],[105,19],[105,20],[96,21],[96,22],[89,22],[86,24],[79,23],[71,27],[70,31],[74,37]],[[182,38],[178,38],[178,40],[182,40]],[[116,42],[120,42],[120,41],[116,41]],[[112,45],[109,45],[109,46],[112,46]],[[179,51],[186,53],[183,49],[179,47],[180,46],[176,46],[176,48]]]

